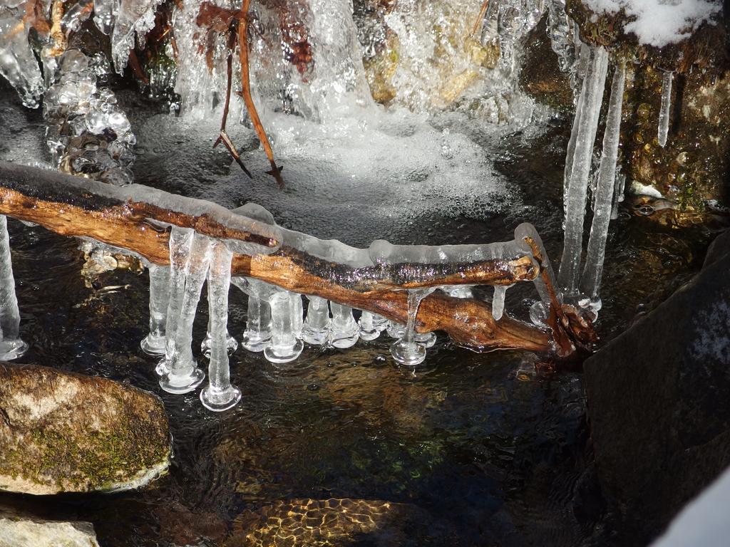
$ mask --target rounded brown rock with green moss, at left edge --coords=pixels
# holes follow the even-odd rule
[[[104,378],[0,363],[0,489],[133,489],[163,473],[169,459],[169,426],[155,395]]]

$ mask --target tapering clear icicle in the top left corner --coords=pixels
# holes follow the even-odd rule
[[[45,86],[23,22],[25,2],[0,4],[0,75],[28,108],[37,108]]]

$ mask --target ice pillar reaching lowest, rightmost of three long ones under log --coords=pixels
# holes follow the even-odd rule
[[[208,410],[220,412],[237,405],[241,390],[231,385],[228,366],[228,290],[231,287],[231,252],[223,241],[212,244],[208,272],[208,303],[210,307],[210,365],[208,385],[200,392],[200,401]]]

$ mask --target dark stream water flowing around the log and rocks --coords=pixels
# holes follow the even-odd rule
[[[0,142],[18,135],[42,139],[39,115],[19,112],[15,98],[4,95]],[[300,224],[270,190],[271,179],[261,175],[247,182],[223,152],[210,150],[210,142],[196,147],[200,139],[194,136],[180,139],[177,151],[140,136],[135,171],[138,182],[225,196],[228,206],[255,195],[287,228],[352,244],[368,243],[376,230],[385,233],[374,237],[421,244],[499,241],[529,221],[556,263],[564,125],[556,120],[542,136],[514,135],[492,145],[494,168],[508,179],[510,195],[517,197],[512,202],[519,205],[498,200],[491,214],[480,217],[421,214],[390,228],[382,219],[365,227],[357,215],[343,222],[342,212],[312,214]],[[0,144],[0,157],[12,159],[12,150]],[[287,192],[291,198],[304,189]],[[147,330],[146,274],[115,271],[99,279],[103,288],[90,289],[80,276],[75,241],[14,221],[9,229],[22,336],[31,346],[23,362],[157,393],[170,416],[174,460],[168,475],[141,492],[4,494],[0,503],[91,521],[102,546],[238,546],[248,544],[245,536],[255,529],[264,529],[261,545],[272,545],[277,533],[283,538],[296,528],[295,521],[324,518],[328,509],[312,500],[328,498],[368,500],[351,511],[371,515],[375,524],[339,529],[325,518],[320,543],[307,545],[631,544],[610,531],[603,513],[579,372],[549,373],[553,363],[546,356],[526,352],[474,354],[443,335],[415,376],[391,360],[385,336],[342,351],[305,349],[285,369],[239,349],[231,357],[231,377],[242,389],[242,402],[214,415],[202,408],[197,392],[162,392],[155,361],[139,349]],[[624,211],[609,239],[598,325],[603,338],[623,330],[637,312],[699,269],[706,242],[699,230],[672,230]],[[510,290],[507,310],[523,316],[521,300],[534,297],[531,291]],[[245,297],[234,288],[231,333],[240,335],[244,323]],[[205,325],[202,299],[195,344]],[[272,515],[289,520],[271,529],[279,522]]]

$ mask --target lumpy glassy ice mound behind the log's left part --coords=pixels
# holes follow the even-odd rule
[[[112,90],[97,86],[104,56],[88,58],[67,50],[57,62],[43,102],[47,144],[56,165],[101,182],[131,183],[134,133]]]

